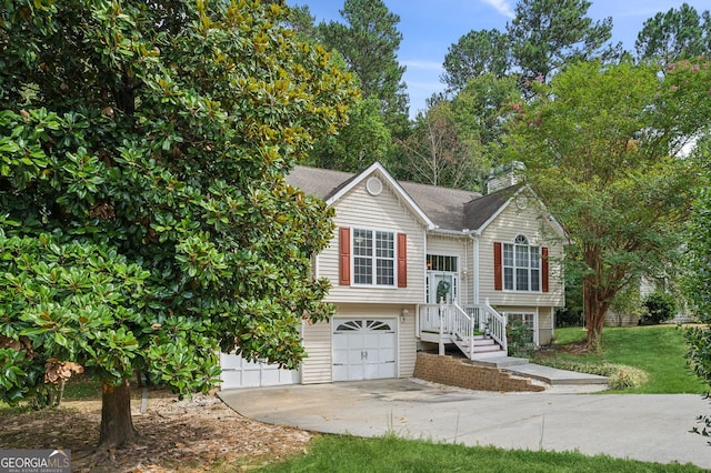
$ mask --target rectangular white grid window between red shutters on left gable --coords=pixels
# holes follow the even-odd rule
[[[353,229],[353,283],[395,284],[394,233]]]

